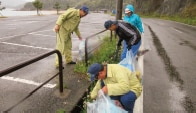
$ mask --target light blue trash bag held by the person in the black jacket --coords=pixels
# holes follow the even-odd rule
[[[127,51],[126,57],[119,64],[129,68],[132,72],[135,71],[135,57],[131,50]]]

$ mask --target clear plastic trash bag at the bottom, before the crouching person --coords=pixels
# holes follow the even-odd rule
[[[128,111],[116,106],[109,96],[99,90],[96,100],[87,103],[87,113],[128,113]]]

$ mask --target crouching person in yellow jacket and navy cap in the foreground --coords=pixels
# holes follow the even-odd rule
[[[98,91],[102,89],[104,94],[109,95],[112,100],[120,102],[128,113],[133,113],[135,100],[142,92],[136,73],[119,64],[99,63],[92,64],[88,68],[88,73],[91,81],[98,80],[90,94],[92,99],[95,99]]]

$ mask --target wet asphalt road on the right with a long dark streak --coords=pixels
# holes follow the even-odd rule
[[[143,19],[144,113],[196,112],[196,27]]]

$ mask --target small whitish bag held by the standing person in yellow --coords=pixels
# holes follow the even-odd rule
[[[85,40],[80,41],[79,50],[78,50],[78,60],[83,60],[85,55]]]

